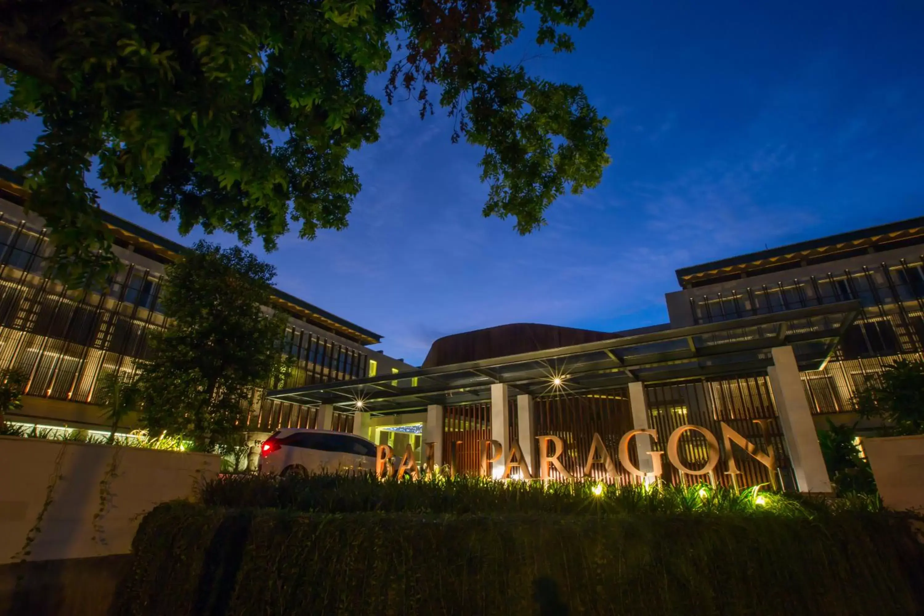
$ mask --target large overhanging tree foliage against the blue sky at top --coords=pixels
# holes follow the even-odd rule
[[[554,52],[574,44],[587,0],[0,0],[0,122],[40,115],[22,171],[67,277],[117,267],[87,186],[144,211],[267,249],[342,229],[359,176],[350,151],[378,139],[380,100],[434,103],[454,141],[483,151],[485,216],[521,234],[565,190],[597,185],[606,118],[579,86],[531,77],[498,54],[525,29]],[[3,66],[6,66],[3,68]]]

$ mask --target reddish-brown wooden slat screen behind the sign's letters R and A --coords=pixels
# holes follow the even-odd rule
[[[626,388],[603,390],[592,394],[560,393],[545,395],[534,401],[536,436],[552,434],[565,444],[565,452],[560,458],[565,470],[576,478],[584,478],[584,465],[593,433],[600,434],[606,451],[616,460],[619,439],[626,431],[632,429],[632,410],[629,406]],[[619,481],[626,483],[630,476],[621,465],[616,463],[620,475]],[[611,483],[603,465],[594,465],[593,480]],[[534,474],[539,476],[539,468]],[[552,469],[552,477],[558,472]]]

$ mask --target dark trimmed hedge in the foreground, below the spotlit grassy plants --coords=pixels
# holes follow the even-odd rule
[[[907,521],[161,505],[117,614],[914,614]]]

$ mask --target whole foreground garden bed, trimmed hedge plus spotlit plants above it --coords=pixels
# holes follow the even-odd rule
[[[117,613],[918,613],[922,546],[879,509],[706,486],[225,477],[144,519]]]

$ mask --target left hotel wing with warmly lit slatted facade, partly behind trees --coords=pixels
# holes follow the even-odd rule
[[[188,248],[103,211],[124,267],[106,292],[78,293],[45,275],[51,247],[43,220],[23,212],[26,199],[21,178],[0,166],[0,369],[29,375],[22,408],[7,417],[108,434],[103,411],[94,404],[97,381],[103,372],[133,374],[150,356],[149,334],[170,325],[158,301],[164,266]],[[296,362],[286,387],[413,368],[368,348],[381,342],[379,334],[282,290],[274,289],[269,308],[288,318],[283,350]],[[256,438],[287,427],[353,429],[352,413],[318,411],[317,405],[260,393],[249,408],[248,427]],[[138,427],[138,417],[122,424],[125,430]]]

